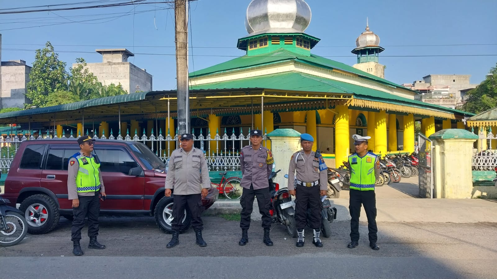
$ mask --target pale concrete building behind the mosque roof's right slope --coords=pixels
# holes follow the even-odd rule
[[[471,84],[470,77],[470,74],[428,74],[422,80],[402,85],[421,93],[415,96],[416,100],[453,109],[464,101],[461,90],[466,92],[478,85]]]

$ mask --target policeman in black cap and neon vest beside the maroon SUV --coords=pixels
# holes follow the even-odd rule
[[[98,243],[98,215],[100,200],[107,196],[103,187],[100,161],[92,155],[95,140],[90,136],[78,139],[81,151],[69,158],[67,192],[69,200],[73,202],[73,225],[71,226],[71,241],[73,254],[83,255],[81,250],[81,229],[84,227],[84,218],[88,218],[88,237],[90,249],[105,249],[105,245]]]

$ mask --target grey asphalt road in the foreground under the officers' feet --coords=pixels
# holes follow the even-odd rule
[[[295,247],[281,225],[271,230],[273,247],[262,243],[260,222],[252,222],[249,243],[239,246],[237,221],[203,217],[205,248],[192,229],[166,249],[171,235],[152,217],[101,217],[99,241],[105,250],[72,256],[70,221],[56,230],[27,235],[18,245],[0,248],[1,278],[495,278],[497,223],[379,223],[380,251],[368,247],[367,227],[355,249],[346,248],[349,223],[334,222],[323,248]],[[85,230],[85,229],[83,229]]]

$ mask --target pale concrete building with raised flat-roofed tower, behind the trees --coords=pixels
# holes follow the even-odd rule
[[[97,49],[102,55],[102,63],[88,63],[91,71],[104,85],[121,83],[128,93],[137,91],[152,91],[152,75],[145,69],[140,69],[128,62],[135,56],[127,49]],[[77,64],[73,64],[75,67]]]

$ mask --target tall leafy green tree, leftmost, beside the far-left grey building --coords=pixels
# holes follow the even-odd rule
[[[49,94],[67,89],[68,77],[66,63],[59,60],[54,47],[47,42],[45,48],[36,50],[33,67],[29,73],[30,81],[26,86],[26,97],[31,100],[31,104],[25,106],[45,106]]]

